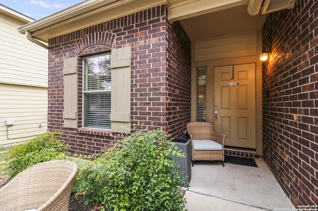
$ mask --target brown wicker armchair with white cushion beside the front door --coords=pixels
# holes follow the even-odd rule
[[[208,122],[190,122],[187,131],[192,144],[192,166],[194,160],[218,160],[223,161],[224,167],[225,135]]]

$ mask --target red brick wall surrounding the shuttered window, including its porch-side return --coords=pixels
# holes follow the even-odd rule
[[[167,21],[161,5],[49,40],[48,129],[63,133],[70,152],[93,154],[121,138],[82,127],[82,63],[79,58],[79,129],[63,127],[63,60],[132,47],[131,124],[183,138],[190,121],[190,40],[179,22]],[[173,106],[173,108],[170,108]]]

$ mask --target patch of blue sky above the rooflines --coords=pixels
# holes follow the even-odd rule
[[[0,3],[38,20],[81,1],[83,0],[0,0]]]

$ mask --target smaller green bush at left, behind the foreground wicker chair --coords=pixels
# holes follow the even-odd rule
[[[6,152],[5,171],[9,179],[27,167],[48,160],[64,159],[64,145],[56,137],[58,132],[45,132],[30,139],[28,142],[13,146]]]

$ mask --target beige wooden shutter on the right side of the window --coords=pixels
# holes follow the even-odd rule
[[[131,47],[111,51],[111,131],[130,133]]]

